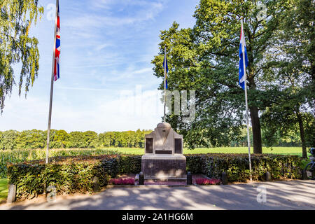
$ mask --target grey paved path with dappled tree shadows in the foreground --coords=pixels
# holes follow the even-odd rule
[[[265,187],[267,202],[258,203]],[[57,197],[52,203],[20,202],[0,209],[312,209],[315,181],[277,181],[228,186],[109,188],[97,195]]]

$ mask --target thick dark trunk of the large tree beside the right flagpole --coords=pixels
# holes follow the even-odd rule
[[[262,154],[261,128],[258,116],[258,107],[251,106],[249,111],[251,112],[251,126],[253,129],[253,153]]]

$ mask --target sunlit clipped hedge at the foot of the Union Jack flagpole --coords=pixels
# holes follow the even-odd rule
[[[55,186],[58,195],[92,193],[94,177],[102,188],[116,174],[115,155],[52,158],[48,165],[43,160],[8,165],[9,184],[16,185],[18,200],[42,195],[48,186]]]

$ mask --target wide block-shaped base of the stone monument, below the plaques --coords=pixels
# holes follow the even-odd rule
[[[183,155],[143,155],[141,171],[145,179],[186,179],[186,157]]]

